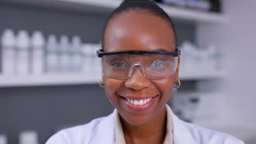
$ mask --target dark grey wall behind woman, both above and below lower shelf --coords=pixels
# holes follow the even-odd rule
[[[42,31],[44,35],[79,35],[83,43],[101,40],[106,14],[33,8],[0,3],[0,33],[11,28]],[[193,23],[175,22],[178,41],[194,41]],[[65,79],[65,77],[63,77]],[[36,130],[40,143],[58,127],[88,123],[113,111],[98,85],[0,88],[0,133],[18,143],[22,130]]]

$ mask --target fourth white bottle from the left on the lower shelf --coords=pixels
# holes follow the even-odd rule
[[[46,43],[46,72],[56,73],[57,67],[59,67],[59,55],[57,53],[57,38],[51,34],[48,37]]]

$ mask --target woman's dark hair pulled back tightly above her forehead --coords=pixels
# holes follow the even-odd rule
[[[175,31],[173,22],[171,20],[171,17],[162,8],[160,8],[154,2],[148,1],[148,0],[125,0],[119,5],[118,8],[116,8],[116,9],[114,9],[114,11],[112,11],[112,13],[109,15],[109,17],[105,23],[105,26],[103,29],[103,35],[102,35],[102,49],[103,49],[103,43],[104,43],[104,34],[105,34],[106,27],[108,26],[109,21],[121,13],[127,13],[132,10],[146,10],[150,14],[159,16],[162,19],[166,20],[166,22],[168,24],[170,24],[170,27],[174,33],[175,44],[177,47],[177,37],[176,37],[176,31]]]

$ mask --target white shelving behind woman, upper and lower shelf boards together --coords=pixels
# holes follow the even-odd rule
[[[4,3],[21,4],[33,7],[82,11],[92,13],[110,13],[121,0],[1,0]],[[194,21],[207,25],[219,25],[228,22],[224,14],[173,7],[159,4],[168,15],[182,21]],[[200,25],[199,25],[200,26]],[[218,79],[226,75],[225,71],[180,71],[181,80]],[[101,74],[43,74],[32,76],[3,76],[0,74],[0,87],[49,86],[96,84]]]

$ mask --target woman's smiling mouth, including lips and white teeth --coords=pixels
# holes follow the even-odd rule
[[[148,110],[154,103],[155,99],[158,98],[159,95],[150,98],[125,98],[119,95],[121,100],[124,101],[124,104],[132,111],[146,111]]]

